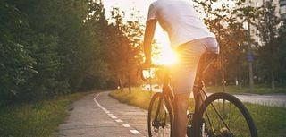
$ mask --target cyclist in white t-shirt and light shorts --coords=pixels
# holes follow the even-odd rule
[[[183,0],[156,0],[149,6],[144,36],[143,67],[151,64],[151,42],[156,22],[168,33],[171,47],[178,55],[172,68],[174,94],[173,137],[185,137],[189,94],[193,88],[198,61],[205,52],[218,54],[215,36],[199,20],[194,8]],[[196,93],[195,93],[196,95]]]

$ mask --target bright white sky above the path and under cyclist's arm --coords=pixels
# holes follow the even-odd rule
[[[132,13],[132,9],[134,8],[136,11],[139,11],[139,16],[143,18],[143,22],[145,23],[147,19],[148,7],[149,4],[154,2],[155,0],[103,0],[103,4],[105,6],[106,17],[110,17],[110,11],[113,7],[119,7],[122,11],[125,12],[126,19],[128,20],[130,17],[130,13]],[[155,58],[153,61],[156,64],[172,64],[175,61],[175,55],[172,52],[170,47],[170,42],[168,39],[167,33],[157,25],[155,38],[158,43],[158,47],[161,51],[161,56]]]

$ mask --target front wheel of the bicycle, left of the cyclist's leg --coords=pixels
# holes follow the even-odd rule
[[[157,109],[158,107],[159,109]],[[162,93],[158,92],[151,98],[148,107],[147,126],[149,137],[172,136],[171,104]]]

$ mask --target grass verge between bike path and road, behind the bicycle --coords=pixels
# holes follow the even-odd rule
[[[131,94],[127,91],[114,90],[109,94],[113,98],[136,107],[147,109],[151,93],[139,88],[133,89]],[[193,101],[190,101],[193,102]],[[286,134],[286,108],[265,107],[261,105],[245,103],[253,117],[259,137],[282,137]],[[190,104],[193,106],[193,104]],[[240,126],[240,125],[238,125]]]

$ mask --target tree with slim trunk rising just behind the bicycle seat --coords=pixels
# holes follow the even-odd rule
[[[236,75],[234,76],[235,78],[240,78],[240,70],[235,69],[235,71],[231,68],[240,68],[241,64],[236,63],[233,65],[234,62],[238,62],[238,60],[234,61],[233,59],[241,59],[240,56],[245,52],[244,43],[247,39],[247,35],[245,29],[243,28],[243,22],[247,21],[248,19],[254,22],[257,15],[257,9],[243,6],[246,4],[246,2],[243,0],[219,4],[216,0],[198,0],[195,2],[198,4],[198,9],[203,9],[203,12],[200,13],[206,13],[204,21],[210,30],[214,32],[220,45],[220,68],[222,70],[222,83],[224,90],[225,72],[236,73],[230,75]],[[218,66],[217,64],[214,65]],[[225,68],[229,68],[230,71],[225,71]]]

